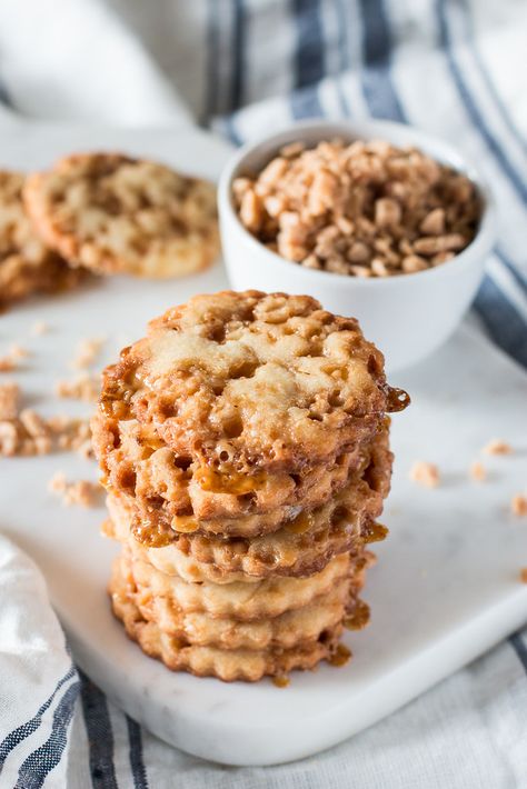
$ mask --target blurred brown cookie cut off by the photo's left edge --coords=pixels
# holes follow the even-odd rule
[[[24,178],[0,170],[0,309],[31,293],[67,290],[86,276],[37,236],[22,203]]]

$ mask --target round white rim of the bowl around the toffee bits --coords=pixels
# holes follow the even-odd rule
[[[410,274],[400,272],[390,277],[350,277],[349,274],[341,274],[332,271],[308,269],[300,266],[296,261],[288,260],[281,254],[268,249],[241,223],[231,199],[232,181],[238,174],[237,171],[242,168],[243,162],[249,157],[257,153],[260,148],[267,149],[270,147],[270,150],[276,153],[281,146],[287,144],[288,142],[294,142],[298,139],[301,140],[301,136],[308,136],[309,132],[312,132],[312,136],[318,137],[319,140],[326,139],[329,133],[347,133],[351,139],[386,139],[388,142],[390,141],[390,134],[391,137],[399,134],[402,137],[407,136],[408,146],[419,148],[436,161],[450,164],[459,172],[467,176],[476,184],[478,192],[483,198],[483,212],[476,236],[470,241],[468,247],[465,247],[465,249],[456,254],[451,260],[448,260],[440,266],[425,269],[424,271],[415,271]],[[384,133],[388,134],[388,137],[384,137]],[[275,141],[276,146],[274,144]],[[404,146],[405,142],[401,140],[400,142],[394,144]],[[272,152],[271,156],[274,156]],[[291,272],[291,267],[296,266],[299,274],[308,280],[310,279],[312,282],[318,281],[325,282],[326,284],[334,282],[339,287],[344,287],[344,282],[346,282],[346,287],[354,288],[386,288],[401,281],[411,282],[416,281],[416,279],[422,281],[422,278],[425,277],[432,280],[437,277],[448,276],[448,272],[454,274],[459,268],[464,268],[470,262],[474,262],[475,258],[480,259],[480,266],[483,268],[487,254],[496,243],[497,237],[496,200],[488,181],[481,176],[474,162],[457,148],[451,146],[451,143],[440,137],[430,134],[428,131],[425,131],[419,127],[386,120],[331,121],[328,119],[311,118],[308,120],[288,123],[272,134],[261,134],[257,139],[243,144],[227,161],[218,183],[218,206],[220,219],[227,218],[230,220],[230,222],[233,223],[236,231],[241,236],[242,240],[248,243],[250,248],[253,248],[255,252],[258,250],[260,254],[267,256],[270,263],[279,269],[287,267],[289,273]]]

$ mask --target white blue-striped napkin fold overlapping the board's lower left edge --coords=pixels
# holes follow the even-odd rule
[[[34,562],[0,536],[0,786],[66,786],[79,678]],[[40,782],[40,780],[42,782]]]

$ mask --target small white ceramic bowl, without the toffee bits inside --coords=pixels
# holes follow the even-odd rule
[[[474,241],[443,266],[386,279],[314,271],[269,251],[239,221],[232,206],[232,180],[258,172],[288,142],[302,140],[314,146],[335,137],[350,141],[381,139],[402,148],[414,146],[466,173],[477,184],[484,202]],[[235,153],[221,174],[218,196],[221,241],[231,287],[308,293],[332,312],[355,316],[365,336],[385,353],[389,370],[415,364],[456,329],[476,294],[496,236],[491,194],[475,168],[443,140],[387,121],[292,124]]]

